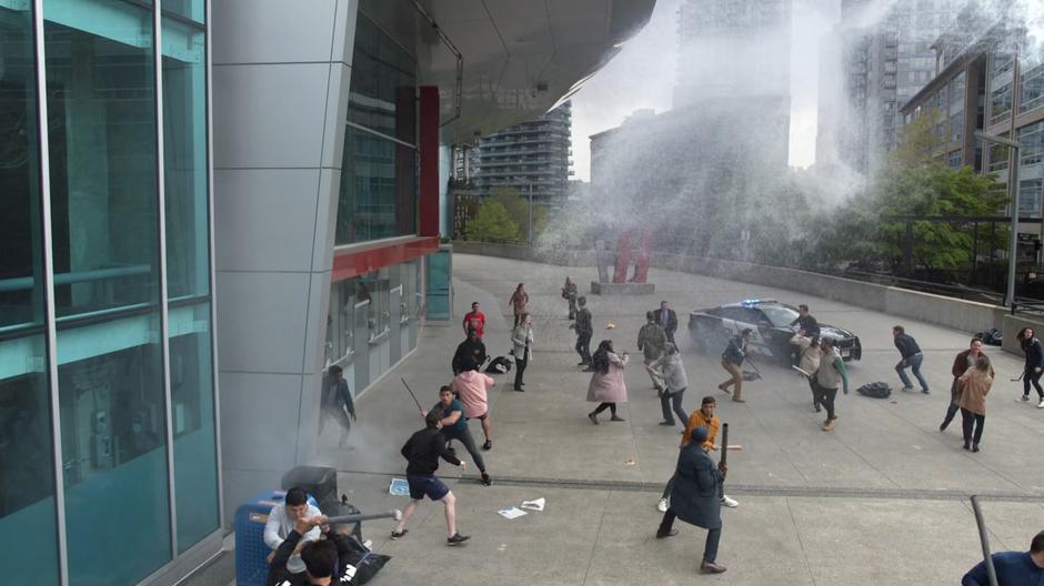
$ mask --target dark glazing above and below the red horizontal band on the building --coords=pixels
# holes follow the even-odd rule
[[[335,245],[414,236],[418,231],[416,59],[362,11],[355,24],[351,92],[338,194]],[[416,347],[423,257],[334,280],[325,364],[344,368],[361,393]]]

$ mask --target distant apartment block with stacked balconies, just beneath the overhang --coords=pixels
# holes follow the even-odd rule
[[[536,120],[480,139],[470,150],[473,192],[485,198],[496,188],[512,188],[523,196],[532,193],[534,202],[562,203],[573,174],[572,115],[566,101]]]

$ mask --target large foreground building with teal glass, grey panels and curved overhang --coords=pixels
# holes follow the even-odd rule
[[[440,141],[551,108],[619,4],[0,1],[4,579],[219,555],[317,463],[328,366],[365,393],[449,311]]]

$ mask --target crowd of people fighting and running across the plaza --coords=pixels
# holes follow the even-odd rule
[[[594,333],[592,314],[586,299],[579,294],[576,283],[571,277],[566,277],[562,286],[562,299],[568,302],[568,317],[571,322],[569,327],[576,335],[574,347],[580,357],[578,366],[583,367],[583,371],[591,375],[586,401],[595,406],[588,413],[588,418],[592,424],[600,425],[599,416],[609,411],[609,422],[624,422],[618,408],[628,402],[625,372],[630,364],[630,354],[626,351],[618,351],[612,340],[602,340],[592,353],[591,340]],[[510,330],[509,354],[515,371],[513,390],[516,392],[524,392],[524,373],[533,360],[533,319],[529,311],[529,303],[530,296],[525,285],[519,283],[508,301],[508,309],[514,316]],[[837,391],[844,394],[850,392],[845,362],[835,347],[834,339],[823,335],[819,322],[811,315],[806,305],[802,304],[799,307],[799,317],[791,325],[794,330],[793,337],[790,340],[793,346],[791,356],[793,366],[807,380],[813,410],[816,413],[826,411],[822,430],[832,432],[839,418],[835,407]],[[471,312],[464,316],[462,329],[465,340],[456,347],[451,361],[452,382],[440,388],[439,402],[431,410],[422,412],[424,428],[414,433],[402,446],[402,456],[408,462],[406,481],[411,501],[402,519],[392,532],[393,539],[402,538],[408,533],[406,524],[425,497],[443,504],[448,545],[461,545],[470,538],[456,529],[455,496],[435,475],[440,459],[454,466],[465,466],[465,463],[456,457],[452,447],[454,441],[464,446],[479,468],[481,483],[485,486],[492,485],[482,452],[476,446],[468,426],[470,420],[479,420],[484,436],[481,449],[492,449],[489,392],[496,383],[493,377],[482,372],[489,361],[483,342],[486,316],[480,310],[478,302],[471,305]],[[689,387],[689,380],[675,342],[676,331],[677,316],[669,302],[663,301],[659,309],[646,312],[645,324],[639,330],[636,343],[638,351],[642,353],[644,370],[660,400],[662,413],[660,425],[682,427],[675,469],[656,504],[663,517],[655,536],[666,538],[675,535],[677,533],[674,528],[675,519],[707,529],[700,569],[705,573],[721,573],[725,570],[725,567],[716,560],[722,533],[721,508],[723,506],[734,508],[739,506],[739,503],[724,493],[724,481],[727,475],[725,458],[722,457],[721,462],[715,464],[711,458],[711,453],[724,454],[731,446],[715,443],[722,426],[722,422],[715,415],[715,397],[703,397],[700,407],[691,413],[684,408],[684,393]],[[753,331],[750,329],[737,332],[727,341],[721,355],[721,366],[727,372],[729,378],[719,384],[717,388],[731,395],[731,401],[735,403],[746,402],[743,387],[744,380],[749,378],[750,373],[743,371],[743,365],[756,352],[756,348],[751,347],[752,334]],[[910,370],[920,384],[921,392],[930,394],[928,382],[921,372],[924,355],[916,340],[901,325],[894,326],[892,334],[901,358],[895,365],[895,372],[903,385],[902,390],[914,391],[912,381],[906,374]],[[1027,327],[1020,332],[1018,341],[1025,353],[1025,367],[1020,377],[1023,383],[1022,401],[1030,400],[1032,386],[1040,396],[1041,402],[1037,406],[1044,408],[1044,390],[1040,384],[1042,368],[1044,368],[1044,350],[1032,329]],[[354,406],[340,368],[333,366],[328,374],[329,380],[323,393],[322,421],[333,418],[341,425],[343,447],[351,421],[355,417]],[[945,432],[956,413],[960,412],[963,423],[963,447],[971,452],[978,452],[985,423],[986,397],[995,377],[991,361],[983,352],[981,339],[972,339],[968,348],[955,356],[952,374],[950,402],[940,431]],[[736,447],[739,446],[734,448]],[[299,496],[294,495],[294,502],[299,501]],[[289,503],[288,495],[288,505]],[[301,516],[304,516],[303,512]],[[287,517],[283,525],[289,527],[293,524],[292,522],[293,518]],[[308,542],[309,538],[318,537],[319,524],[308,528],[310,533],[301,533],[298,536],[297,553],[301,553],[301,544]],[[270,547],[273,550],[279,549],[282,539],[287,539],[285,535],[280,543],[273,538]],[[1034,563],[1037,563],[1037,558],[1044,555],[1042,554],[1044,540],[1037,544],[1041,539],[1044,538],[1038,535],[1033,545],[1036,549],[1031,548],[1031,553],[1027,554],[1027,559]],[[1017,559],[1025,562],[1023,557]],[[299,558],[291,555],[285,562],[288,569],[300,570]],[[1038,564],[1038,566],[1044,566],[1044,564]],[[980,584],[981,582],[975,582],[978,579],[976,576],[978,576],[977,570],[970,572],[965,576],[964,584]]]

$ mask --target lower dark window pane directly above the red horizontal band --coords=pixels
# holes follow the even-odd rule
[[[416,151],[349,125],[338,201],[337,244],[416,232]]]

